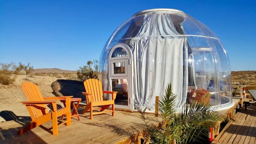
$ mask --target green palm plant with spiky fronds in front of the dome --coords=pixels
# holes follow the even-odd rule
[[[217,128],[220,121],[227,120],[220,113],[212,109],[212,104],[204,101],[194,101],[180,111],[175,109],[176,95],[172,92],[172,85],[168,84],[164,95],[158,101],[162,121],[158,125],[148,124],[145,110],[141,112],[147,131],[144,139],[150,143],[203,143],[207,137],[209,127]]]

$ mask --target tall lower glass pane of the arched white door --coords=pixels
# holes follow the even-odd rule
[[[112,79],[112,91],[117,92],[115,104],[128,106],[128,81],[127,79]]]

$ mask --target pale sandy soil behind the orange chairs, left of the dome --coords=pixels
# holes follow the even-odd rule
[[[21,91],[21,84],[24,81],[36,84],[43,97],[73,95],[85,100],[81,94],[84,91],[83,82],[68,77],[60,79],[54,76],[17,75],[13,84],[0,84],[0,122],[12,120],[12,118],[19,116],[29,116],[26,106],[20,103],[27,101],[26,96]],[[62,103],[59,104],[62,105]]]

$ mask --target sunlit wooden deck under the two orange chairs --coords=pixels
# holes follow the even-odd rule
[[[0,143],[124,143],[136,140],[135,134],[145,129],[145,123],[138,112],[115,111],[115,117],[107,113],[95,115],[93,120],[89,119],[88,112],[79,115],[80,121],[74,117],[71,126],[61,125],[57,136],[52,135],[52,121],[23,135],[16,133],[29,122],[28,119],[0,123]],[[147,114],[146,117],[154,124],[160,120],[160,117],[153,114]]]

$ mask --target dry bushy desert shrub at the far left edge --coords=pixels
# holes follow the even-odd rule
[[[4,85],[12,84],[16,76],[14,73],[15,64],[12,63],[0,63],[0,83]]]

